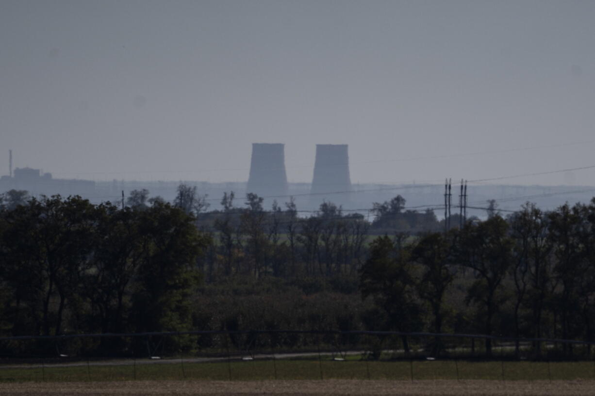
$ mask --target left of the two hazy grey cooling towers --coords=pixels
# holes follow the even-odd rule
[[[284,144],[252,143],[246,192],[261,197],[287,195]]]

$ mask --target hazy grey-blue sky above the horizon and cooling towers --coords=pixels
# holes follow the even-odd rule
[[[595,165],[594,126],[595,1],[0,0],[0,174],[473,180]]]

